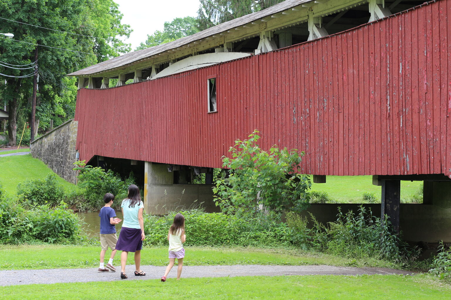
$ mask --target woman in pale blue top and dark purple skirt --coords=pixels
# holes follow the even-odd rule
[[[124,215],[124,221],[116,244],[116,250],[122,251],[120,255],[120,278],[127,278],[125,264],[127,263],[129,252],[135,253],[135,276],[145,276],[146,272],[139,269],[141,249],[143,249],[143,241],[146,238],[143,220],[144,203],[141,201],[139,188],[136,185],[131,184],[129,186],[129,194],[126,199],[122,200],[120,207],[122,207],[122,215]]]

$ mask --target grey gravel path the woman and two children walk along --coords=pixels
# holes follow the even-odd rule
[[[134,265],[126,268],[128,279],[146,280],[159,279],[164,274],[165,266],[142,266],[147,272],[146,276],[134,276]],[[7,270],[0,271],[0,286],[32,284],[32,283],[58,283],[58,282],[92,282],[117,281],[118,272],[98,273],[97,268],[92,269],[42,269],[42,270]],[[326,265],[308,266],[273,266],[273,265],[232,265],[232,266],[184,266],[182,277],[227,277],[227,276],[278,276],[278,275],[361,275],[361,274],[403,274],[406,272],[385,268],[355,268],[335,267]],[[168,278],[175,278],[177,266],[174,266]]]

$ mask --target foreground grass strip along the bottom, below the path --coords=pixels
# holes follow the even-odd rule
[[[82,276],[82,274],[81,274]],[[256,276],[117,280],[0,287],[0,299],[449,300],[448,284],[424,276]]]

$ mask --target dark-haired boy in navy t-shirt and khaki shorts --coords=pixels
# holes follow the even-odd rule
[[[108,272],[110,269],[113,272],[116,272],[116,268],[113,266],[114,255],[116,254],[116,228],[115,225],[119,224],[122,221],[119,218],[116,218],[116,212],[111,208],[111,205],[114,201],[114,195],[111,193],[106,193],[103,196],[103,201],[105,202],[105,206],[103,206],[99,212],[100,217],[100,266],[97,272]],[[105,259],[105,253],[108,250],[108,246],[111,248],[111,256],[108,264],[104,265],[103,260]],[[106,269],[106,268],[108,269]]]

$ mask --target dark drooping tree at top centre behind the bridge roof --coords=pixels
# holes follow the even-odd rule
[[[198,28],[212,26],[255,13],[284,0],[199,0]]]

